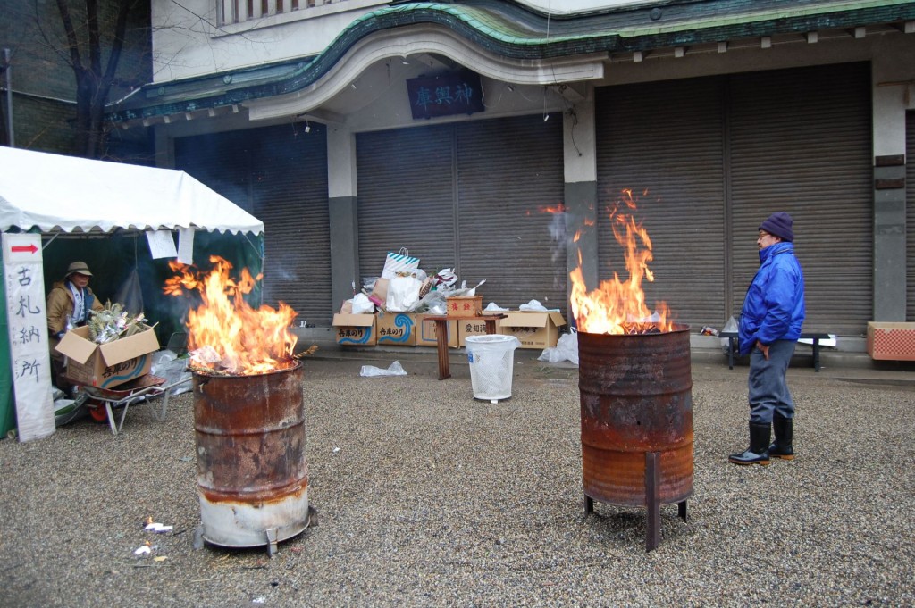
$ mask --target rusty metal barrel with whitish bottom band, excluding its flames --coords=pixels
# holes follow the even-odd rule
[[[256,376],[194,374],[203,539],[275,546],[308,526],[302,365]]]

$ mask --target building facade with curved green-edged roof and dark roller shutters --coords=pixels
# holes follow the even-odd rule
[[[562,4],[561,9],[552,4]],[[153,82],[113,108],[264,220],[264,294],[327,326],[406,248],[486,302],[567,314],[625,278],[632,193],[662,300],[737,315],[795,219],[808,331],[915,321],[915,2],[153,0]]]

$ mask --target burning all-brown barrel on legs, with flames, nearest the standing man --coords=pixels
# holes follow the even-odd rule
[[[624,202],[635,208],[631,198]],[[660,507],[677,504],[685,520],[686,499],[693,494],[689,327],[668,321],[663,303],[653,313],[645,306],[641,280],[653,280],[647,267],[651,240],[618,209],[611,216],[613,232],[626,249],[630,279],[614,276],[588,292],[580,264],[570,274],[578,325],[582,483],[586,515],[595,500],[646,507],[651,550],[660,539]]]

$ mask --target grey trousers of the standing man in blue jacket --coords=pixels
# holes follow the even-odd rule
[[[770,424],[778,413],[782,418],[794,417],[794,400],[788,389],[788,364],[794,354],[794,340],[776,340],[769,347],[769,360],[753,347],[749,355],[749,421]]]

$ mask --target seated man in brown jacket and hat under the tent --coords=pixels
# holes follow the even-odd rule
[[[69,391],[70,382],[64,376],[64,357],[55,347],[60,338],[73,327],[86,325],[89,311],[102,310],[89,279],[92,272],[84,261],[74,261],[63,281],[54,283],[48,293],[48,347],[51,351],[51,381],[57,388]]]

